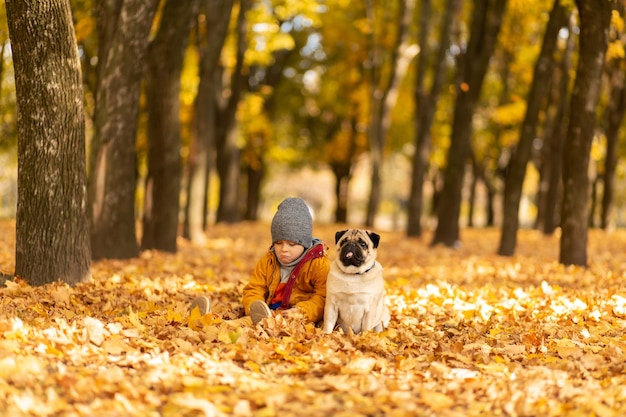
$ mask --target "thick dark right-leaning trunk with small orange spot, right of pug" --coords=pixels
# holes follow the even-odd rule
[[[470,40],[459,65],[452,137],[432,245],[459,242],[459,215],[465,167],[471,151],[472,117],[495,49],[506,0],[478,0],[474,4]]]

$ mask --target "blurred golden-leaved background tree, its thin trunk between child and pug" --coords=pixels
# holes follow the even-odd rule
[[[335,177],[334,219],[345,223],[353,165],[368,148],[367,29],[353,24],[362,19],[363,4],[332,2],[319,16],[304,12],[311,24],[293,34],[297,54],[284,70],[292,75],[274,88],[276,133],[268,160],[327,165]]]

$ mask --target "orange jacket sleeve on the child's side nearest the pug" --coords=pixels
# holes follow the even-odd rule
[[[312,259],[307,265],[306,275],[302,274],[304,284],[313,287],[310,297],[302,301],[296,301],[295,307],[299,308],[312,322],[318,322],[324,317],[324,305],[326,304],[326,277],[330,270],[328,256]]]

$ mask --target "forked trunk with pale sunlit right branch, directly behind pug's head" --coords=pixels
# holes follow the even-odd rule
[[[368,19],[370,24],[374,25],[373,6],[371,2],[367,2]],[[413,18],[413,10],[415,8],[415,0],[399,0],[400,10],[398,13],[396,35],[396,44],[389,59],[390,76],[388,80],[382,80],[382,57],[380,48],[376,45],[374,34],[372,32],[372,111],[369,128],[370,154],[371,154],[371,180],[370,180],[370,196],[367,205],[367,214],[365,219],[366,226],[374,226],[374,219],[378,212],[378,206],[381,199],[381,178],[380,172],[383,163],[383,153],[385,150],[385,142],[387,132],[391,125],[391,111],[396,104],[400,83],[406,74],[408,66],[417,54],[417,46],[409,45],[410,33],[409,26]]]

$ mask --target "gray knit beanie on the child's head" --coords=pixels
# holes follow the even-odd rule
[[[272,242],[290,240],[305,248],[313,241],[313,219],[301,198],[286,198],[278,205],[272,219]]]

